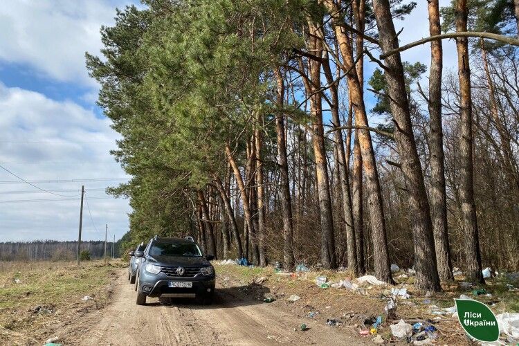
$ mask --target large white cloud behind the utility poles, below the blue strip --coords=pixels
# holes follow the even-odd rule
[[[26,180],[99,179],[125,176],[109,154],[116,147],[118,135],[109,127],[107,118],[98,118],[70,101],[57,102],[40,93],[8,88],[0,83],[0,164]],[[17,179],[0,170],[0,181]],[[84,206],[84,239],[104,239],[104,224],[116,238],[128,230],[128,201],[96,199],[107,197],[102,189],[117,181],[84,182],[86,196],[95,226],[93,230],[88,208]],[[45,190],[66,196],[80,195],[82,182],[37,183]],[[75,190],[65,191],[60,190]],[[62,199],[25,183],[1,183],[0,192],[33,193],[1,194],[0,201],[22,199]],[[77,238],[79,198],[73,201],[0,202],[0,239],[69,239]]]

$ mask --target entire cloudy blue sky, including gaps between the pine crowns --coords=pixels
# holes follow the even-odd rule
[[[84,239],[103,239],[104,224],[116,238],[127,232],[128,201],[103,190],[123,180],[102,180],[126,176],[109,155],[118,134],[95,105],[99,86],[86,73],[84,52],[99,53],[100,27],[113,24],[116,7],[132,2],[140,6],[12,0],[0,7],[0,165],[37,186],[0,170],[0,242],[76,239],[82,184],[89,202]],[[396,22],[401,44],[428,36],[427,1],[418,2],[406,21]],[[428,48],[406,51],[403,60],[428,65]],[[444,42],[444,52],[446,68],[455,66],[453,42]],[[365,80],[375,67],[366,62]],[[369,92],[366,98],[370,109],[374,98]]]

